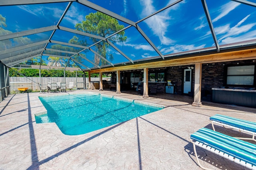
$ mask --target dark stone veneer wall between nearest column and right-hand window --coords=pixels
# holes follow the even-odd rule
[[[221,86],[224,86],[225,66],[239,66],[240,64],[252,63],[252,60],[243,60],[202,64],[202,100],[211,100],[212,88],[220,88]]]

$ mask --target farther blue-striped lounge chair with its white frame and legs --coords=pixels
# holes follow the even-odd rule
[[[238,131],[243,131],[245,133],[252,134],[252,138],[242,138],[236,137],[237,139],[246,139],[256,141],[256,123],[251,121],[246,121],[242,119],[236,119],[234,117],[229,117],[225,115],[214,115],[210,117],[210,121],[212,122],[212,129],[214,129],[214,123],[222,125],[225,128],[230,128]]]

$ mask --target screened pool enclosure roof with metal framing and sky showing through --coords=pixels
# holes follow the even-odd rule
[[[255,7],[252,0],[1,1],[0,61],[90,71],[255,48]]]

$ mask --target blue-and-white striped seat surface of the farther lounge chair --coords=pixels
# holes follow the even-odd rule
[[[246,121],[242,119],[236,119],[234,117],[229,117],[225,115],[214,115],[210,117],[211,121],[217,121],[220,123],[224,123],[226,125],[238,127],[240,129],[248,130],[256,133],[256,123],[251,121]]]

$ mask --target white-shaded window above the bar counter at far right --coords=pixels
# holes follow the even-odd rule
[[[228,85],[254,85],[255,66],[230,66],[227,68]]]

